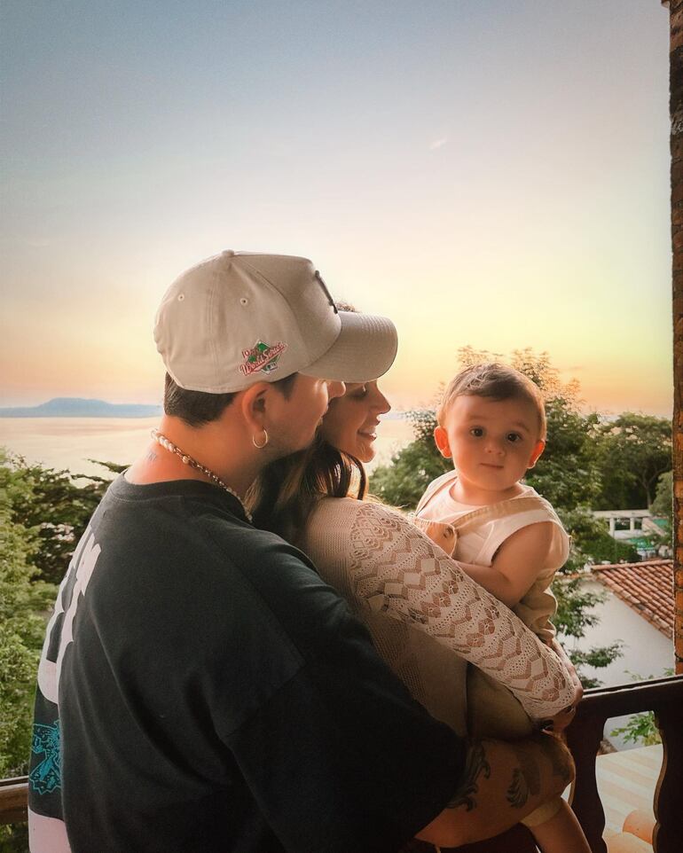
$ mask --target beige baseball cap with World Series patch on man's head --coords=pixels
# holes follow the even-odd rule
[[[337,310],[306,258],[232,251],[174,281],[154,340],[177,385],[209,394],[294,372],[367,382],[389,370],[397,347],[387,317]]]

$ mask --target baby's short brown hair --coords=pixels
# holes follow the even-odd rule
[[[459,396],[491,397],[494,400],[526,400],[538,413],[538,437],[546,441],[546,404],[535,382],[506,364],[473,364],[448,383],[436,410],[439,426],[444,426],[448,410]]]

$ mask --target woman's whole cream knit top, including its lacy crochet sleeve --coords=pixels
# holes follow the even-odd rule
[[[368,625],[378,651],[433,716],[465,732],[465,661],[533,719],[567,708],[561,660],[403,515],[372,501],[319,501],[302,542]]]

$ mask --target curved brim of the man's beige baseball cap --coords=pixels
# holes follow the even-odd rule
[[[389,370],[398,336],[387,317],[340,311],[342,331],[324,356],[299,371],[305,376],[342,382],[369,382]]]

